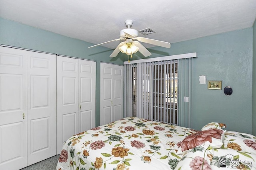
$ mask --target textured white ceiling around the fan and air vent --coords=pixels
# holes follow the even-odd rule
[[[93,44],[119,38],[132,19],[156,32],[140,37],[175,43],[252,27],[256,0],[0,0],[0,17]]]

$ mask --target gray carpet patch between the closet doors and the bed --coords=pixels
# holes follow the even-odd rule
[[[51,158],[42,160],[41,162],[32,164],[20,170],[55,170],[59,156],[60,156],[59,154],[56,156],[52,156]]]

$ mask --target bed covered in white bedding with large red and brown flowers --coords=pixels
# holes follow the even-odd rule
[[[256,170],[256,137],[127,117],[70,137],[56,170]]]

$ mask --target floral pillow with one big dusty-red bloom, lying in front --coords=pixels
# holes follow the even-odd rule
[[[192,133],[177,144],[179,147],[177,154],[184,154],[198,146],[202,146],[205,149],[208,147],[211,147],[211,149],[220,148],[225,138],[224,132],[221,129],[207,129]]]

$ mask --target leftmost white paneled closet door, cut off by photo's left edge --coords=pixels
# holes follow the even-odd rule
[[[0,47],[0,169],[27,166],[27,52]]]

